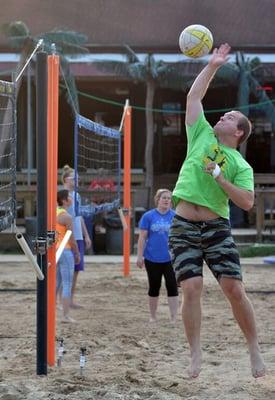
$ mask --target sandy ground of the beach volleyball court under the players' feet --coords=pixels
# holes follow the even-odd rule
[[[162,289],[158,324],[150,326],[145,272],[131,270],[124,278],[120,264],[86,266],[77,294],[85,308],[72,311],[77,323],[61,324],[57,313],[56,335],[66,350],[62,366],[37,376],[36,281],[27,264],[0,264],[0,400],[275,399],[274,266],[243,268],[268,368],[259,379],[251,377],[244,339],[207,270],[203,370],[195,380],[186,373],[189,354],[180,314],[171,326]],[[87,347],[84,376],[81,346]]]

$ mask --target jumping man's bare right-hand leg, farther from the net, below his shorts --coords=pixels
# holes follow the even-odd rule
[[[245,293],[244,285],[241,281],[230,278],[221,278],[220,285],[247,340],[252,375],[254,378],[264,376],[266,369],[260,354],[254,309]]]

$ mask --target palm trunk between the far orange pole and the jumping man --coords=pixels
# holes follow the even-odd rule
[[[153,102],[155,94],[155,82],[147,81],[146,87],[146,146],[145,146],[145,187],[149,189],[149,201],[154,184],[153,147],[154,147],[154,114]]]

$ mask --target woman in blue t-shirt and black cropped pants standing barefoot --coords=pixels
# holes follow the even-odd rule
[[[150,322],[156,322],[159,291],[164,276],[171,322],[175,323],[178,288],[168,250],[168,232],[175,215],[171,209],[171,192],[159,189],[154,201],[156,208],[143,214],[139,223],[137,266],[145,266],[148,275]]]

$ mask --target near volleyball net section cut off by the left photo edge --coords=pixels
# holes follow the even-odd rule
[[[0,232],[16,218],[15,84],[0,81]]]

